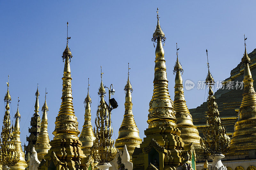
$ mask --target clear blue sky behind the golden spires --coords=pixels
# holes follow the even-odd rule
[[[53,139],[55,117],[61,103],[66,47],[67,21],[69,47],[73,55],[71,77],[73,104],[79,129],[84,123],[84,98],[90,78],[92,125],[99,103],[100,65],[103,83],[116,90],[113,96],[119,107],[112,111],[115,134],[124,115],[124,85],[128,62],[133,87],[132,102],[135,121],[143,138],[148,127],[148,104],[153,94],[155,48],[151,41],[156,26],[156,8],[165,33],[164,46],[171,99],[174,97],[172,73],[179,60],[184,69],[183,83],[203,81],[207,74],[205,49],[208,49],[210,71],[215,81],[230,76],[244,53],[244,33],[247,51],[256,48],[255,1],[1,1],[1,76],[0,97],[4,99],[8,74],[12,97],[11,116],[17,110],[20,97],[21,142],[26,142],[30,118],[34,113],[35,92],[39,84],[40,116],[47,87],[48,132]],[[206,100],[205,90],[185,90],[189,108]],[[207,93],[206,93],[207,95]],[[4,101],[0,102],[2,119]],[[0,122],[2,124],[2,122]],[[1,125],[0,124],[0,125]]]

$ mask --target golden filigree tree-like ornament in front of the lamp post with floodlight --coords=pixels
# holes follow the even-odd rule
[[[114,147],[114,140],[111,139],[113,128],[111,128],[111,116],[108,110],[108,105],[104,100],[106,91],[102,83],[102,75],[103,73],[101,70],[101,82],[98,92],[98,94],[100,95],[100,105],[98,106],[95,118],[96,129],[94,128],[93,130],[96,139],[93,141],[92,157],[94,160],[99,162],[98,166],[110,167],[111,165],[109,162],[116,157],[117,151]]]

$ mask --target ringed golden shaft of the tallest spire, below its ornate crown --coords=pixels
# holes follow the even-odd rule
[[[161,39],[157,40],[155,59],[154,90],[149,102],[148,128],[170,126],[176,128],[173,101],[168,92],[168,80],[164,60],[164,48]]]

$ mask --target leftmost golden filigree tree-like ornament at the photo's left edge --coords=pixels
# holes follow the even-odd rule
[[[11,120],[10,120],[10,107],[9,103],[11,103],[11,95],[9,93],[9,75],[8,75],[8,83],[7,83],[7,92],[4,96],[4,101],[6,102],[5,106],[5,114],[3,120],[3,128],[1,132],[0,140],[0,164],[2,166],[13,166],[19,162],[19,152],[17,152],[14,145],[14,137],[11,129]],[[4,168],[4,167],[3,167]]]

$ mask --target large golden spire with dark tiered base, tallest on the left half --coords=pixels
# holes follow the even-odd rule
[[[65,60],[63,71],[64,73],[62,78],[62,102],[60,105],[59,114],[56,117],[55,130],[52,132],[54,137],[53,140],[50,142],[51,149],[48,151],[48,154],[44,156],[45,163],[44,166],[42,166],[42,169],[47,169],[53,159],[57,159],[57,161],[59,161],[58,165],[54,165],[58,166],[58,168],[60,169],[75,170],[76,162],[80,165],[80,168],[82,169],[85,166],[84,164],[81,165],[81,160],[86,156],[81,150],[82,143],[77,137],[80,132],[78,130],[78,122],[72,102],[72,78],[70,75],[71,72],[69,63],[73,56],[68,48],[68,40],[70,38],[71,37],[68,37],[67,35],[67,46],[62,55],[63,62]]]

